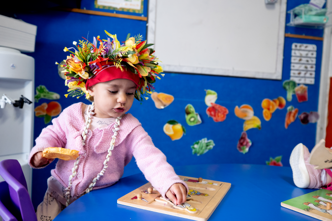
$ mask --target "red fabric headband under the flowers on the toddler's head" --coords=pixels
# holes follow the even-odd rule
[[[138,88],[138,83],[140,82],[140,76],[137,74],[132,73],[128,69],[125,70],[125,68],[122,68],[123,71],[121,71],[120,68],[112,66],[104,66],[99,71],[97,70],[93,77],[91,79],[87,80],[87,83],[85,84],[85,88],[88,89],[89,86],[92,86],[96,83],[101,82],[108,82],[115,79],[128,79],[130,81],[133,81],[136,84],[136,89]]]

